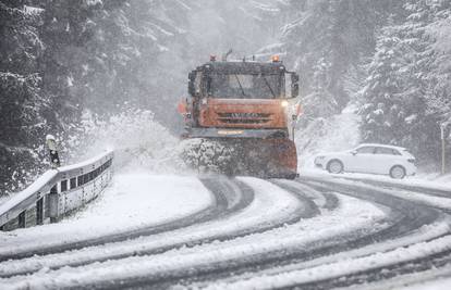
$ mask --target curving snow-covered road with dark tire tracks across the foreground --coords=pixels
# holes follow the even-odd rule
[[[317,175],[118,175],[95,203],[63,223],[2,234],[0,288],[417,282],[409,275],[431,277],[434,267],[446,272],[451,262],[446,193]]]

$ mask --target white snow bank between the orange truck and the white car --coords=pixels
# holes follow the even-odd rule
[[[298,167],[314,167],[315,155],[321,152],[342,151],[358,144],[359,116],[356,106],[348,105],[341,114],[328,118],[316,118],[297,130],[295,143],[298,152]]]

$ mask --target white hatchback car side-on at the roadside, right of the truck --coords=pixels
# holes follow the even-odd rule
[[[401,179],[415,175],[415,157],[405,148],[386,144],[359,144],[353,150],[316,156],[315,165],[339,174],[370,173]]]

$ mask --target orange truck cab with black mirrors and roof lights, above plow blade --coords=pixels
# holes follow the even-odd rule
[[[211,128],[210,135],[204,130],[205,137],[217,136],[218,128],[241,128],[242,137],[247,136],[246,129],[263,135],[265,130],[288,130],[289,100],[298,94],[298,77],[287,72],[281,62],[210,61],[191,72],[188,78],[192,98],[179,106],[187,128]],[[255,138],[258,134],[251,135]]]

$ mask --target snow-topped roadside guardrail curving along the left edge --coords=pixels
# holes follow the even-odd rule
[[[0,205],[0,229],[56,223],[95,199],[112,177],[113,151],[85,162],[47,171]]]

